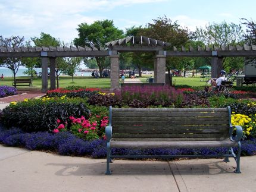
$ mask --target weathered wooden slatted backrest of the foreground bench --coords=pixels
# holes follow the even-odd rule
[[[111,111],[111,110],[110,110]],[[226,140],[230,108],[112,109],[114,140]]]

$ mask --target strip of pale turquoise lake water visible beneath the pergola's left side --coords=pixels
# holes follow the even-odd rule
[[[36,68],[35,70],[36,70],[36,72],[38,72],[38,74],[39,74],[39,72],[42,72],[42,68]],[[16,73],[16,77],[27,76],[27,75],[24,74],[24,71],[27,71],[27,69],[26,68],[18,69],[18,72]],[[4,77],[13,77],[13,72],[8,68],[2,68],[1,67],[0,68],[0,75],[1,74],[4,74]],[[92,73],[76,71],[75,75],[77,75],[77,76],[82,76],[82,75],[83,76],[91,76]]]

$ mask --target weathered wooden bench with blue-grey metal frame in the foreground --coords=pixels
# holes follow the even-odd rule
[[[235,133],[233,133],[235,131]],[[112,108],[107,138],[107,171],[111,174],[113,158],[220,158],[236,160],[240,173],[242,127],[231,125],[230,107],[227,108]],[[235,134],[235,135],[233,135]],[[111,148],[199,148],[226,147],[222,155],[111,155]],[[232,147],[238,147],[235,155]]]

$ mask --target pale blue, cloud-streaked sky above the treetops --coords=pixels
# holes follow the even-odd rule
[[[77,37],[80,23],[114,20],[119,29],[145,26],[167,15],[191,30],[208,23],[241,23],[240,18],[256,20],[255,0],[0,0],[0,35],[38,37],[49,33],[65,42]]]

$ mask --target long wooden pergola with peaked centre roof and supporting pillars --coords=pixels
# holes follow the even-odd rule
[[[50,63],[50,89],[55,89],[55,59],[57,57],[93,57],[110,56],[111,62],[111,89],[119,88],[119,55],[118,52],[154,52],[154,80],[155,83],[164,83],[166,81],[166,58],[168,56],[179,57],[211,57],[211,76],[217,77],[218,71],[222,70],[222,59],[226,56],[256,56],[255,45],[243,46],[208,46],[193,48],[184,46],[176,48],[171,47],[171,43],[152,39],[144,36],[130,36],[123,39],[114,40],[106,43],[108,50],[97,49],[88,46],[49,46],[49,47],[18,47],[18,48],[0,48],[0,57],[23,58],[39,57],[42,62],[42,92],[48,90],[48,59]],[[171,49],[171,51],[167,51]]]

